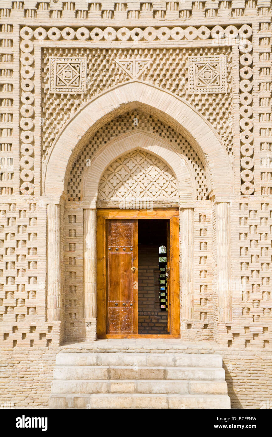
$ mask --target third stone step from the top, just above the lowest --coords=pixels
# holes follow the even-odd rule
[[[58,379],[52,382],[52,393],[172,393],[225,395],[227,394],[227,383],[225,381],[180,381],[165,379]]]

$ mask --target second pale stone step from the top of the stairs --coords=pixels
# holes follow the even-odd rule
[[[223,368],[144,366],[57,366],[56,379],[225,380]]]

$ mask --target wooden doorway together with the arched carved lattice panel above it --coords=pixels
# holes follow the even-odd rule
[[[179,201],[176,175],[134,149],[104,171],[98,199],[116,208],[97,210],[97,336],[179,336],[179,208],[167,208]]]

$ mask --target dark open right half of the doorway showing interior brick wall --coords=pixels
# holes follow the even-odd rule
[[[167,303],[164,297],[167,296],[163,293],[165,272],[163,264],[160,263],[166,260],[166,253],[162,252],[167,248],[167,222],[169,220],[138,221],[139,334],[169,333],[167,305],[164,307],[164,303]]]

